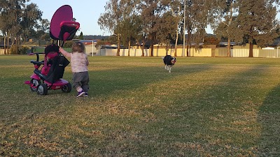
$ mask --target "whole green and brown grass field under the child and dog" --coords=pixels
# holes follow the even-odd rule
[[[31,59],[0,56],[0,156],[280,156],[280,59],[89,57],[88,98],[32,93]]]

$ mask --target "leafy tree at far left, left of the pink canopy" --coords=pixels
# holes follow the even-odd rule
[[[20,38],[27,38],[38,22],[42,12],[29,0],[0,0],[0,30],[4,36],[13,38],[16,43],[16,52]]]

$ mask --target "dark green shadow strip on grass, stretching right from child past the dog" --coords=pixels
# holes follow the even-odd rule
[[[172,73],[168,73],[164,66],[90,71],[90,94],[94,97],[109,96],[115,92],[139,89],[156,82],[170,84],[170,80],[181,75],[193,75],[193,73],[209,69],[211,69],[211,65],[189,65],[173,68]]]

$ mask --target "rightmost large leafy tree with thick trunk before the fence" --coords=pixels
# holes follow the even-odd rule
[[[249,56],[253,57],[253,43],[262,46],[272,43],[278,36],[276,33],[279,21],[276,17],[276,6],[278,0],[247,0],[239,1],[235,39],[238,41],[248,40],[250,45]]]

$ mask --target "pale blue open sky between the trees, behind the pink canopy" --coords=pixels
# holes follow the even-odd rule
[[[80,23],[80,31],[83,35],[101,35],[109,36],[111,33],[101,30],[97,21],[102,13],[104,13],[106,0],[30,0],[36,3],[38,9],[43,12],[42,18],[52,20],[55,11],[64,5],[71,6],[73,17],[76,22]],[[80,34],[80,31],[77,34]]]

